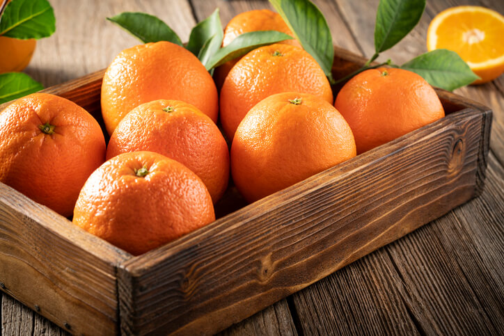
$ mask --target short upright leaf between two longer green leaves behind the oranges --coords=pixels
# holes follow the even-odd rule
[[[215,42],[212,42],[212,48],[214,48],[213,46],[217,45],[217,43],[219,43],[219,45],[217,45],[216,49],[207,51],[207,53],[216,52],[221,47],[222,38],[224,36],[224,33],[222,31],[221,17],[219,16],[219,8],[214,10],[214,13],[212,13],[209,17],[194,26],[194,28],[191,30],[191,35],[189,35],[187,49],[194,55],[198,56],[203,46],[207,44],[210,38],[213,38],[214,35],[216,35],[216,38],[214,40]]]

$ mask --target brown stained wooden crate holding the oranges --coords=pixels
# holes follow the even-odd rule
[[[342,77],[364,59],[336,48]],[[100,115],[103,71],[44,90]],[[134,257],[0,184],[0,289],[75,334],[214,333],[478,196],[491,111],[446,118]],[[0,110],[7,104],[0,106]]]

